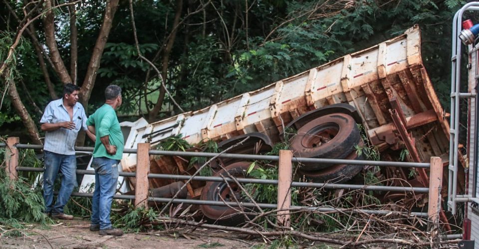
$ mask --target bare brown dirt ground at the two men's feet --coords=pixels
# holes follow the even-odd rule
[[[166,235],[159,231],[148,234],[130,233],[120,237],[113,237],[100,236],[98,232],[90,232],[89,227],[89,221],[80,219],[62,221],[48,229],[33,225],[29,228],[31,231],[25,232],[26,236],[2,237],[0,239],[0,249],[236,249],[251,248],[262,244],[261,242],[235,239],[233,235],[225,231],[213,231],[201,228],[198,228],[194,233],[185,233],[184,235]],[[184,231],[187,232],[188,230]],[[267,247],[268,246],[265,245],[265,248]]]

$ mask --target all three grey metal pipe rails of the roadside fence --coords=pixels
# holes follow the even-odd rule
[[[5,143],[0,143],[0,147],[6,146]],[[41,149],[42,145],[33,145],[33,144],[15,144],[16,148],[24,149]],[[76,151],[93,151],[92,147],[75,147]],[[137,153],[136,149],[125,149],[124,153]],[[203,156],[203,157],[225,157],[225,158],[236,158],[236,159],[252,159],[252,160],[271,160],[278,161],[279,156],[267,156],[267,155],[247,155],[247,154],[229,154],[229,153],[205,153],[205,152],[185,152],[185,151],[164,151],[164,150],[149,150],[148,154],[153,155],[170,155],[170,156]],[[322,159],[322,158],[300,158],[293,157],[291,162],[321,162],[321,163],[331,163],[331,164],[357,164],[357,165],[375,165],[375,166],[395,166],[395,167],[420,167],[420,168],[429,168],[430,163],[411,163],[411,162],[388,162],[388,161],[367,161],[367,160],[344,160],[344,159]],[[16,167],[17,171],[33,171],[33,172],[42,172],[43,168],[35,167]],[[93,170],[76,170],[78,174],[94,175]],[[136,177],[136,172],[119,172],[120,176],[124,177]],[[228,177],[215,177],[215,176],[188,176],[188,175],[172,175],[172,174],[153,174],[149,173],[148,178],[160,178],[160,179],[174,179],[174,180],[198,180],[198,181],[217,181],[217,182],[234,182],[234,179]],[[267,179],[253,179],[253,178],[238,178],[236,181],[240,183],[257,183],[257,184],[274,184],[278,185],[278,180],[267,180]],[[426,187],[412,187],[412,186],[376,186],[376,185],[353,185],[353,184],[334,184],[334,183],[312,183],[312,182],[292,182],[292,187],[311,187],[311,188],[323,188],[323,189],[363,189],[368,191],[393,191],[393,192],[416,192],[416,193],[429,193],[429,188]],[[79,193],[74,192],[71,196],[78,197],[92,197],[92,193]],[[115,195],[115,199],[123,200],[135,200],[135,195]],[[173,198],[159,198],[159,197],[148,197],[148,201],[162,202],[162,203],[183,203],[191,205],[215,205],[215,206],[244,206],[247,208],[256,207],[253,203],[236,203],[236,202],[222,202],[222,201],[209,201],[209,200],[193,200],[193,199],[173,199]],[[260,208],[266,209],[277,209],[277,204],[266,204],[259,203],[257,204]],[[333,207],[304,207],[304,206],[291,206],[290,210],[310,210],[310,211],[320,211],[320,212],[360,212],[365,214],[376,214],[376,215],[386,215],[389,213],[396,214],[407,214],[411,216],[418,217],[428,217],[428,213],[425,212],[410,212],[402,213],[391,210],[363,210],[363,209],[338,209]]]

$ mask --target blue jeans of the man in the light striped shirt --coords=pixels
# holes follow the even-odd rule
[[[71,192],[78,183],[76,182],[76,157],[75,155],[62,155],[44,151],[45,170],[43,171],[43,199],[45,200],[45,213],[63,213],[63,207],[70,199]],[[61,187],[53,206],[53,184],[58,171],[61,171]]]

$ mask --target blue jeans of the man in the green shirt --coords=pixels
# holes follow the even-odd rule
[[[100,229],[111,228],[110,211],[118,182],[118,160],[95,157],[91,166],[95,169],[95,191],[91,206],[91,225]]]

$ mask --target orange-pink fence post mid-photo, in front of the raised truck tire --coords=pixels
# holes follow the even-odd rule
[[[289,217],[289,207],[291,206],[291,181],[292,181],[292,163],[291,150],[279,151],[278,167],[278,226],[288,227],[291,225]]]

